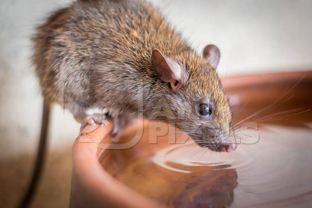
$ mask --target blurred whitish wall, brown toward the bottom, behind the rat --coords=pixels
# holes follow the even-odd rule
[[[34,28],[70,0],[0,2],[0,206],[12,207],[28,183],[42,97],[29,57]],[[312,1],[152,0],[201,52],[221,51],[221,76],[312,69]],[[34,207],[68,206],[71,144],[80,125],[54,106],[48,162]]]

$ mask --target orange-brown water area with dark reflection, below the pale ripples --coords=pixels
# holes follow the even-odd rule
[[[160,167],[149,158],[138,158],[111,174],[134,190],[170,207],[231,205],[237,173],[230,165],[198,163],[189,166],[168,162],[165,166],[181,171]]]

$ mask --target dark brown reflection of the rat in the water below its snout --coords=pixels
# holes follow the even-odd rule
[[[220,168],[216,170],[215,168]],[[202,166],[193,168],[192,176],[183,174],[180,189],[171,196],[168,205],[174,207],[207,207],[229,206],[234,197],[233,190],[237,185],[235,169],[222,169],[221,166]],[[183,186],[184,182],[184,186]]]

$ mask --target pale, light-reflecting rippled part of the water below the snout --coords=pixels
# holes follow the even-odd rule
[[[159,151],[152,161],[160,169],[189,175],[185,176],[186,180],[194,175],[201,177],[198,181],[202,177],[206,180],[207,177],[217,176],[214,193],[210,196],[205,192],[197,193],[199,198],[210,198],[214,194],[231,196],[231,199],[226,199],[227,203],[217,201],[215,205],[274,207],[285,206],[288,201],[294,200],[297,205],[308,206],[312,202],[311,133],[310,129],[290,130],[272,126],[260,130],[261,140],[258,143],[241,144],[231,153],[200,152],[199,147],[189,152],[179,151],[184,148],[183,145]],[[168,154],[171,149],[178,152]],[[198,154],[193,156],[193,152]],[[209,186],[208,182],[204,189],[214,188]],[[310,200],[305,201],[307,197]]]

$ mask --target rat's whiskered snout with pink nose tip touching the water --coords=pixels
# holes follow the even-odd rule
[[[237,143],[234,137],[221,130],[210,130],[203,138],[207,143],[206,147],[215,152],[232,152],[236,149]]]

